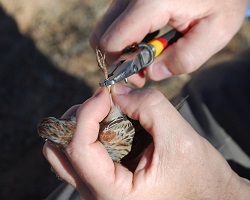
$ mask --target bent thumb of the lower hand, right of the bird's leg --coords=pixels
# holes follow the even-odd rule
[[[153,137],[135,170],[134,180],[149,177],[176,159],[176,151],[190,146],[188,140],[194,133],[171,103],[158,91],[136,89],[115,84],[112,90],[114,103],[130,118],[139,120],[141,126]],[[197,137],[197,136],[195,136]],[[136,182],[134,182],[137,185]]]

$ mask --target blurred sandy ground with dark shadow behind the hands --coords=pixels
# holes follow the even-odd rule
[[[59,117],[99,87],[88,36],[110,0],[0,0],[0,199],[43,199],[60,182],[42,155],[36,126]],[[230,23],[230,19],[229,19]],[[204,67],[250,46],[250,22]],[[171,99],[191,78],[146,87]]]

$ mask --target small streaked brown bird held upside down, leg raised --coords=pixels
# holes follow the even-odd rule
[[[108,79],[105,54],[103,55],[99,49],[96,49],[96,59],[105,78]],[[111,91],[112,86],[109,86],[108,89]],[[122,113],[121,109],[113,103],[111,93],[110,100],[111,109],[107,117],[100,123],[98,140],[105,146],[113,161],[120,162],[123,158],[125,161],[132,160],[152,142],[152,138],[138,121],[131,120]],[[39,135],[61,150],[67,147],[75,129],[75,116],[68,119],[48,117],[38,125]]]

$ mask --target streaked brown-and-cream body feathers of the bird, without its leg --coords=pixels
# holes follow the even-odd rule
[[[68,119],[48,117],[38,125],[39,135],[61,150],[68,146],[75,129],[75,116]],[[100,123],[98,140],[105,146],[111,159],[120,162],[131,151],[134,134],[135,128],[132,122],[113,105],[109,115]]]

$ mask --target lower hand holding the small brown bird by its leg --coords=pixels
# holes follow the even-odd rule
[[[85,199],[249,198],[249,183],[231,170],[161,93],[119,84],[113,91],[114,102],[153,137],[134,173],[114,163],[97,141],[99,122],[110,108],[105,88],[78,109],[76,132],[65,154],[44,146],[55,171]]]

